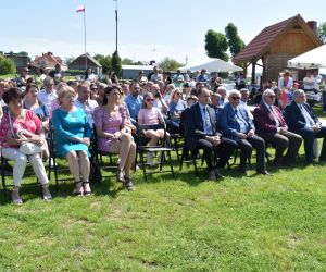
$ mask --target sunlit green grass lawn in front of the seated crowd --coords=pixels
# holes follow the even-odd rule
[[[21,207],[1,193],[0,271],[326,271],[325,168],[137,171],[131,193],[111,178],[73,197],[66,182],[45,202],[25,186]]]

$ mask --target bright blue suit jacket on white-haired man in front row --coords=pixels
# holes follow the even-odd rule
[[[243,109],[241,106],[238,107],[239,114],[247,122],[250,129],[255,129],[254,124],[250,116],[248,115],[247,109]],[[236,113],[230,103],[226,103],[224,108],[220,111],[220,127],[222,129],[223,136],[229,139],[237,140],[237,132],[240,132],[240,125],[237,122]]]

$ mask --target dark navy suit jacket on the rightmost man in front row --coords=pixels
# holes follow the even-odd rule
[[[303,107],[316,123],[319,122],[318,118],[313,113],[312,108],[308,103],[303,103]],[[286,107],[284,115],[289,126],[289,131],[299,133],[302,128],[304,128],[305,119],[301,112],[301,109],[294,101]]]

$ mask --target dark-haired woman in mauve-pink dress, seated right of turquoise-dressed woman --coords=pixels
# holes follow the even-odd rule
[[[136,156],[131,131],[126,127],[126,111],[118,106],[120,89],[106,87],[103,106],[95,110],[98,147],[101,151],[118,153],[117,180],[133,189],[130,170]]]

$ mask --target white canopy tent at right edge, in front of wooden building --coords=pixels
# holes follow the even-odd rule
[[[288,67],[306,70],[326,67],[326,45],[289,60]]]

